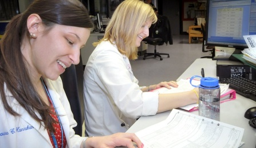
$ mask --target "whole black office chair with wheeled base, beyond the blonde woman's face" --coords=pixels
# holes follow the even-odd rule
[[[152,24],[152,26],[149,28],[149,36],[147,38],[144,38],[143,41],[147,44],[155,46],[154,52],[144,54],[143,60],[145,60],[148,56],[158,56],[160,57],[160,60],[163,60],[161,55],[167,55],[167,57],[170,57],[169,54],[156,52],[156,46],[162,46],[164,43],[166,43],[167,45],[168,42],[170,44],[173,43],[171,36],[171,27],[168,18],[162,15],[158,15],[157,22],[155,24]]]

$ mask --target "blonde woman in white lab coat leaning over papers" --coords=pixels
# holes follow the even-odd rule
[[[157,17],[152,7],[126,0],[115,10],[104,38],[90,55],[84,71],[86,133],[90,136],[125,132],[140,116],[165,112],[198,101],[194,91],[158,94],[153,89],[178,87],[175,81],[139,87],[129,60],[149,35]],[[198,93],[198,89],[196,89]]]

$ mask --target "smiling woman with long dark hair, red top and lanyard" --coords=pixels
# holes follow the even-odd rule
[[[36,0],[0,42],[0,147],[143,147],[135,134],[80,137],[60,79],[93,23],[77,0]]]

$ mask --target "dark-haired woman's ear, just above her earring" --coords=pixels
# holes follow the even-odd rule
[[[27,18],[27,29],[30,34],[37,34],[39,32],[39,25],[42,22],[41,17],[38,14],[30,14]]]

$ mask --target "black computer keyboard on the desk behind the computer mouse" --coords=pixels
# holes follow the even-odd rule
[[[235,92],[256,101],[256,81],[248,80],[243,77],[231,77],[229,79],[221,79],[219,83],[229,84]]]

